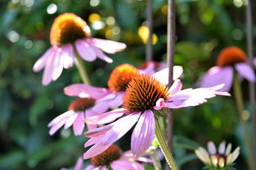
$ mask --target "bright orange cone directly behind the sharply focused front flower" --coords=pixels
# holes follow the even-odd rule
[[[137,75],[139,75],[139,71],[132,65],[119,65],[110,74],[108,86],[111,91],[125,91],[128,83]]]

